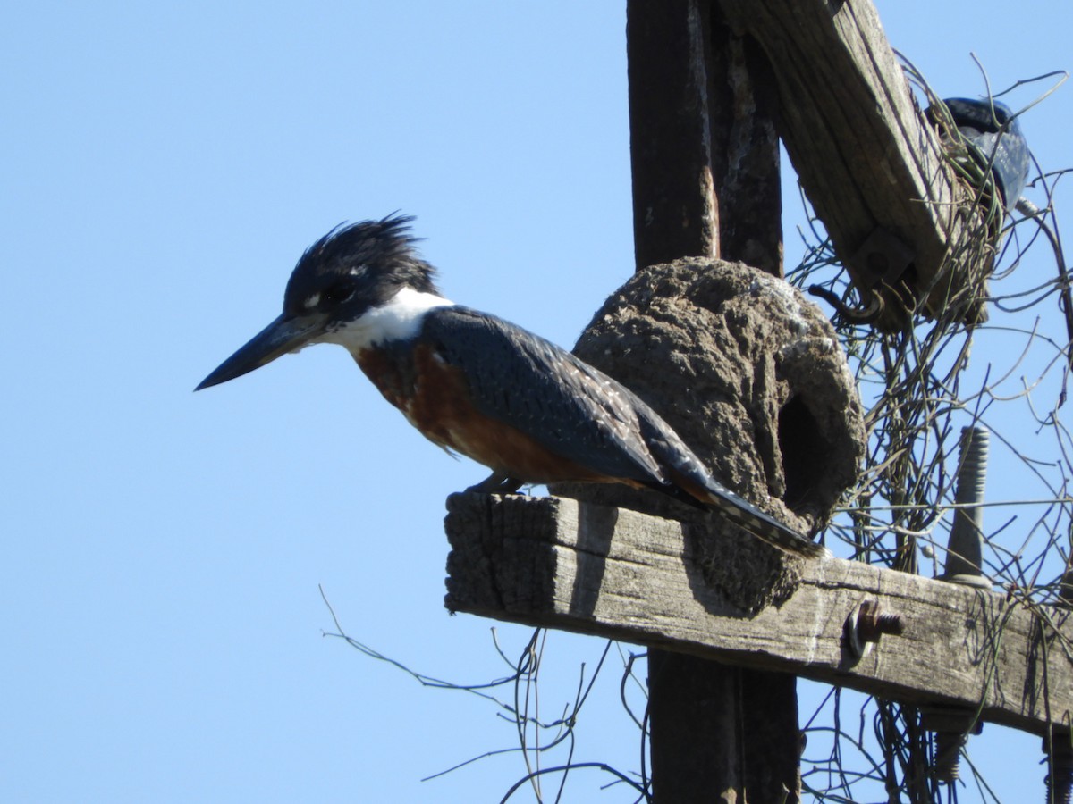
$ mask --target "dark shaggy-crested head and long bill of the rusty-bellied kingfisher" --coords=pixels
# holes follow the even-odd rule
[[[286,283],[283,312],[195,390],[226,383],[313,343],[350,345],[355,328],[362,330],[363,322],[376,317],[400,291],[417,299],[439,299],[436,271],[414,249],[412,220],[391,214],[340,225],[310,245]],[[432,306],[421,301],[416,307],[422,304]]]

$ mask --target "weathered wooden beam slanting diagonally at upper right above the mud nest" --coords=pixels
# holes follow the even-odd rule
[[[718,0],[734,28],[754,38],[779,88],[779,134],[809,200],[858,288],[946,304],[940,269],[960,224],[954,180],[935,132],[870,0]],[[953,279],[954,286],[964,282]],[[979,315],[978,308],[967,315]]]

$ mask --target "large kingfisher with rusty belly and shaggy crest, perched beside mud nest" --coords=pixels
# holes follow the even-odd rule
[[[626,386],[543,338],[455,304],[416,249],[410,215],[336,226],[298,259],[283,311],[197,385],[226,383],[314,343],[348,349],[428,440],[491,468],[468,491],[549,482],[655,489],[782,550],[823,547],[720,483]]]

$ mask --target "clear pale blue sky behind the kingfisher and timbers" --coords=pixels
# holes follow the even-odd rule
[[[1071,65],[1064,4],[879,9],[941,95],[983,92],[970,51],[995,87]],[[318,592],[420,670],[503,674],[495,624],[442,608],[443,500],[483,470],[342,349],[191,391],[275,317],[306,245],[396,209],[449,297],[572,344],[633,267],[622,3],[9,5],[0,68],[0,798],[498,801],[516,756],[420,779],[512,726],[324,639]],[[1073,89],[1023,125],[1073,164]],[[1026,271],[1052,276],[1043,248]],[[498,634],[511,656],[528,639]],[[601,649],[549,637],[548,712]],[[633,769],[617,685],[576,758]],[[983,761],[1017,758],[1003,800],[1042,791],[1038,741],[988,738]],[[606,781],[564,800],[630,800]]]

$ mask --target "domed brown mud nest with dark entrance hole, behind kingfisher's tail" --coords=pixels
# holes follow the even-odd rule
[[[659,411],[725,486],[804,532],[856,478],[855,383],[829,322],[780,279],[706,258],[652,266],[607,299],[574,352]],[[620,487],[556,493],[681,518]]]

